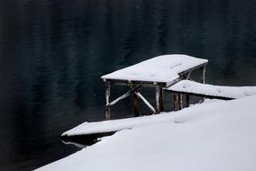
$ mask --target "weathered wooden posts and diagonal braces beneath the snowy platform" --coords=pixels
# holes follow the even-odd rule
[[[118,103],[119,101],[123,100],[124,98],[128,97],[129,95],[133,94],[133,109],[134,109],[134,116],[140,115],[139,108],[140,108],[140,99],[142,99],[142,102],[144,102],[153,113],[160,113],[164,110],[163,108],[163,97],[164,97],[164,87],[169,87],[170,85],[174,85],[178,83],[178,81],[183,80],[183,79],[188,79],[191,80],[191,73],[194,70],[200,69],[201,70],[201,82],[205,84],[206,82],[206,65],[207,62],[201,65],[198,65],[196,67],[191,67],[188,68],[187,70],[184,70],[178,75],[180,76],[177,79],[172,80],[171,82],[168,83],[160,83],[160,82],[151,82],[151,81],[136,81],[136,80],[123,80],[123,79],[104,79],[106,82],[106,88],[105,88],[105,119],[109,120],[110,119],[110,107],[114,105],[115,103]],[[124,85],[124,86],[129,86],[131,89],[126,92],[125,94],[119,96],[116,98],[114,101],[111,103],[109,102],[109,97],[110,97],[110,82],[112,85]],[[139,87],[137,87],[139,86]],[[143,96],[140,94],[138,89],[141,86],[147,86],[147,87],[155,87],[155,100],[156,100],[156,108],[154,108],[151,103],[149,103]],[[135,88],[136,87],[136,88]],[[133,89],[135,88],[135,89]],[[185,104],[184,106],[188,107],[189,106],[189,97],[190,94],[185,95]],[[174,94],[174,106],[175,106],[175,111],[181,110],[183,106],[183,94],[182,93],[176,93]]]

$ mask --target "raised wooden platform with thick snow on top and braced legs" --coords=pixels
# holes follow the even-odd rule
[[[139,115],[139,99],[142,99],[153,113],[163,111],[163,88],[177,83],[180,79],[188,79],[191,72],[201,70],[201,82],[205,83],[206,64],[204,58],[172,54],[151,58],[131,67],[114,71],[102,76],[105,81],[105,118],[110,119],[110,107],[133,94],[134,115]],[[128,92],[110,102],[110,85],[126,85]],[[156,108],[139,92],[142,86],[156,89]]]

